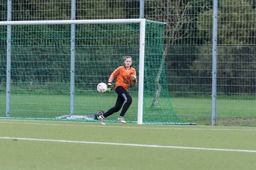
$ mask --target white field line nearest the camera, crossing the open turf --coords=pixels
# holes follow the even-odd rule
[[[112,142],[87,142],[87,141],[75,141],[75,140],[48,140],[48,139],[36,139],[25,137],[0,137],[1,140],[29,140],[29,141],[42,141],[42,142],[65,142],[65,143],[79,143],[79,144],[92,144],[92,145],[117,145],[127,147],[155,147],[155,148],[171,148],[171,149],[193,149],[193,150],[207,150],[207,151],[222,151],[222,152],[250,152],[256,153],[256,150],[245,149],[218,149],[218,148],[206,148],[206,147],[178,147],[178,146],[162,146],[162,145],[142,145],[142,144],[125,144],[125,143],[112,143]]]

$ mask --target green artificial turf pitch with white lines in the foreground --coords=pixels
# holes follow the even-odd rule
[[[256,167],[255,127],[2,119],[0,129],[5,170]]]

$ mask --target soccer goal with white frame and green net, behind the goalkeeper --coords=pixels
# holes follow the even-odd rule
[[[129,55],[142,86],[130,86],[127,122],[181,123],[166,79],[164,23],[144,21],[142,29],[142,21],[0,22],[1,118],[95,121],[117,98],[114,91],[97,93],[97,84]]]

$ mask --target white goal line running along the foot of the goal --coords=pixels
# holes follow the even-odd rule
[[[29,120],[29,121],[33,121],[33,120]],[[40,120],[41,122],[42,120]],[[164,128],[163,126],[167,126],[167,125],[151,125],[154,127],[149,127],[146,126],[144,127],[144,125],[139,125],[139,127],[131,127],[127,125],[123,125],[122,126],[113,126],[111,125],[111,123],[107,123],[107,125],[95,125],[95,123],[93,123],[94,125],[90,125],[90,122],[87,123],[79,123],[79,124],[67,124],[67,123],[63,123],[63,124],[58,124],[58,123],[28,123],[28,122],[1,122],[0,124],[25,124],[25,125],[53,125],[53,126],[74,126],[74,127],[98,127],[98,128],[124,128],[124,129],[146,129],[146,130],[233,130],[233,131],[256,131],[256,128],[213,128],[212,126],[208,126],[208,128],[205,128],[205,126],[202,125],[168,125],[170,128]],[[133,124],[131,124],[133,125]],[[178,126],[181,126],[182,128],[177,128]],[[159,127],[159,128],[158,128]],[[191,127],[196,127],[196,128],[191,128]]]

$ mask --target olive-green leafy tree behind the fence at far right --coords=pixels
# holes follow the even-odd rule
[[[252,93],[255,91],[255,8],[247,0],[219,1],[218,8],[218,84],[224,93]],[[230,6],[230,4],[233,4]],[[208,79],[195,83],[209,84],[211,72],[211,41],[213,9],[198,17],[198,35],[203,40],[200,54],[191,67],[194,74]],[[208,64],[206,64],[208,63]],[[202,69],[204,68],[204,69]]]

